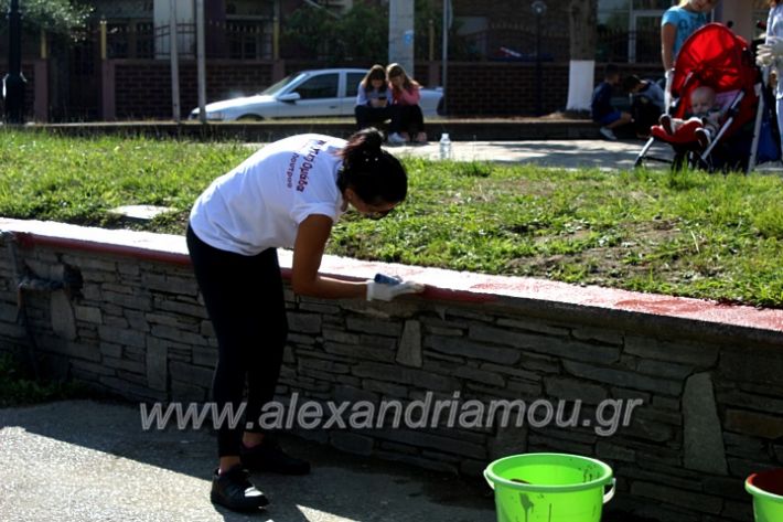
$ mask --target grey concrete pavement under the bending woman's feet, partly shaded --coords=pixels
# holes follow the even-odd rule
[[[489,487],[287,437],[305,477],[254,476],[270,498],[253,515],[210,502],[216,438],[141,428],[138,406],[66,401],[0,409],[3,522],[493,522]]]

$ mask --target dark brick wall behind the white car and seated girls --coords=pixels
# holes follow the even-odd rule
[[[304,68],[321,68],[318,62],[287,61],[286,74]],[[355,66],[365,66],[356,64]],[[207,64],[207,102],[254,94],[271,85],[272,62],[214,62]],[[430,64],[416,66],[417,79],[436,86]],[[435,67],[440,75],[440,68]],[[171,71],[165,61],[116,61],[116,100],[119,119],[171,117]],[[659,66],[629,65],[623,74],[659,76]],[[448,68],[448,110],[451,116],[524,116],[536,108],[536,66],[514,62],[453,62]],[[597,64],[596,82],[603,76]],[[541,65],[541,106],[544,113],[564,109],[568,98],[568,64]],[[182,114],[197,106],[196,67],[193,62],[180,65]]]

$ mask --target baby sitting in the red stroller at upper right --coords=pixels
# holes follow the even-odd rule
[[[663,114],[658,121],[667,135],[687,141],[696,140],[706,149],[720,128],[725,113],[715,89],[702,85],[690,93],[690,110],[684,118]]]

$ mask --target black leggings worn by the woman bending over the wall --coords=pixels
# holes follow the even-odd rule
[[[187,227],[187,251],[199,288],[217,338],[217,365],[212,382],[218,408],[237,412],[247,381],[245,419],[217,432],[219,457],[239,455],[243,430],[260,432],[264,404],[275,397],[288,335],[286,299],[277,251],[244,256],[214,248]]]

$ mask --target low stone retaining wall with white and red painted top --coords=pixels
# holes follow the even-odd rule
[[[0,349],[29,353],[32,339],[42,371],[132,401],[208,400],[215,340],[182,237],[13,220],[0,230]],[[686,522],[752,520],[744,479],[783,462],[781,310],[335,257],[322,271],[430,286],[392,303],[287,290],[280,401],[326,412],[330,401],[418,401],[417,413],[459,403],[459,426],[302,436],[468,475],[524,451],[593,456],[618,478],[610,509]],[[545,426],[558,400],[582,401],[578,426]],[[502,409],[483,415],[498,401],[537,415],[498,428]],[[608,434],[619,413],[630,425]]]

